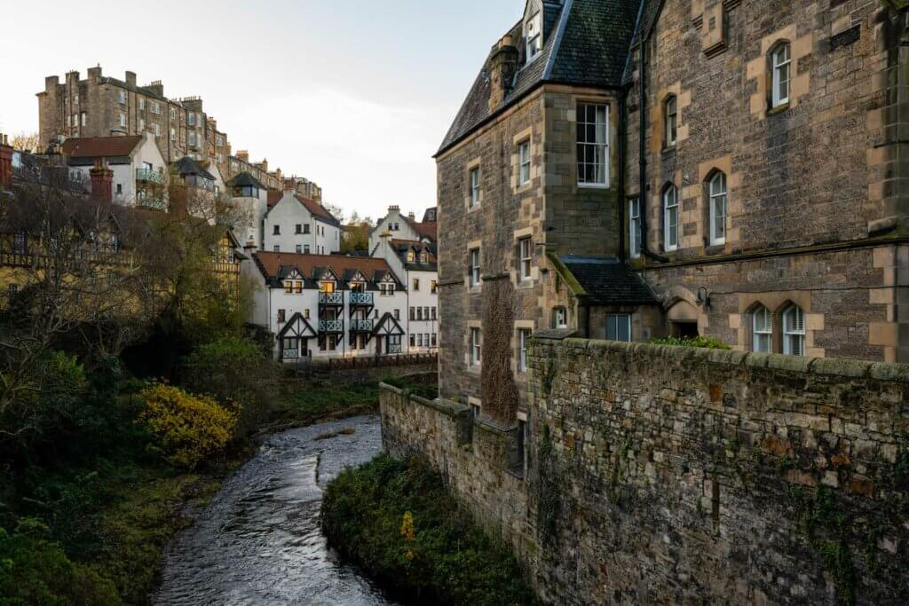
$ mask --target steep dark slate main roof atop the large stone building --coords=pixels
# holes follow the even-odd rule
[[[623,84],[624,66],[641,0],[564,0],[544,3],[544,45],[534,61],[514,75],[502,107],[490,112],[489,76],[480,70],[464,104],[436,153],[442,154],[475,128],[547,82],[614,87]],[[509,31],[524,62],[523,21]]]

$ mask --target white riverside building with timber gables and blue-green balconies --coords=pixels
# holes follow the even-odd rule
[[[275,335],[275,359],[406,353],[407,293],[383,259],[263,251],[244,263],[252,322]]]

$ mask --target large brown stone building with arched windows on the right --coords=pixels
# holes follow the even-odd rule
[[[529,0],[436,156],[443,396],[520,422],[543,330],[909,361],[904,17]]]

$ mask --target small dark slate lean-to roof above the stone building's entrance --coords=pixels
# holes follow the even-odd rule
[[[560,257],[593,305],[656,305],[654,293],[618,257]]]

